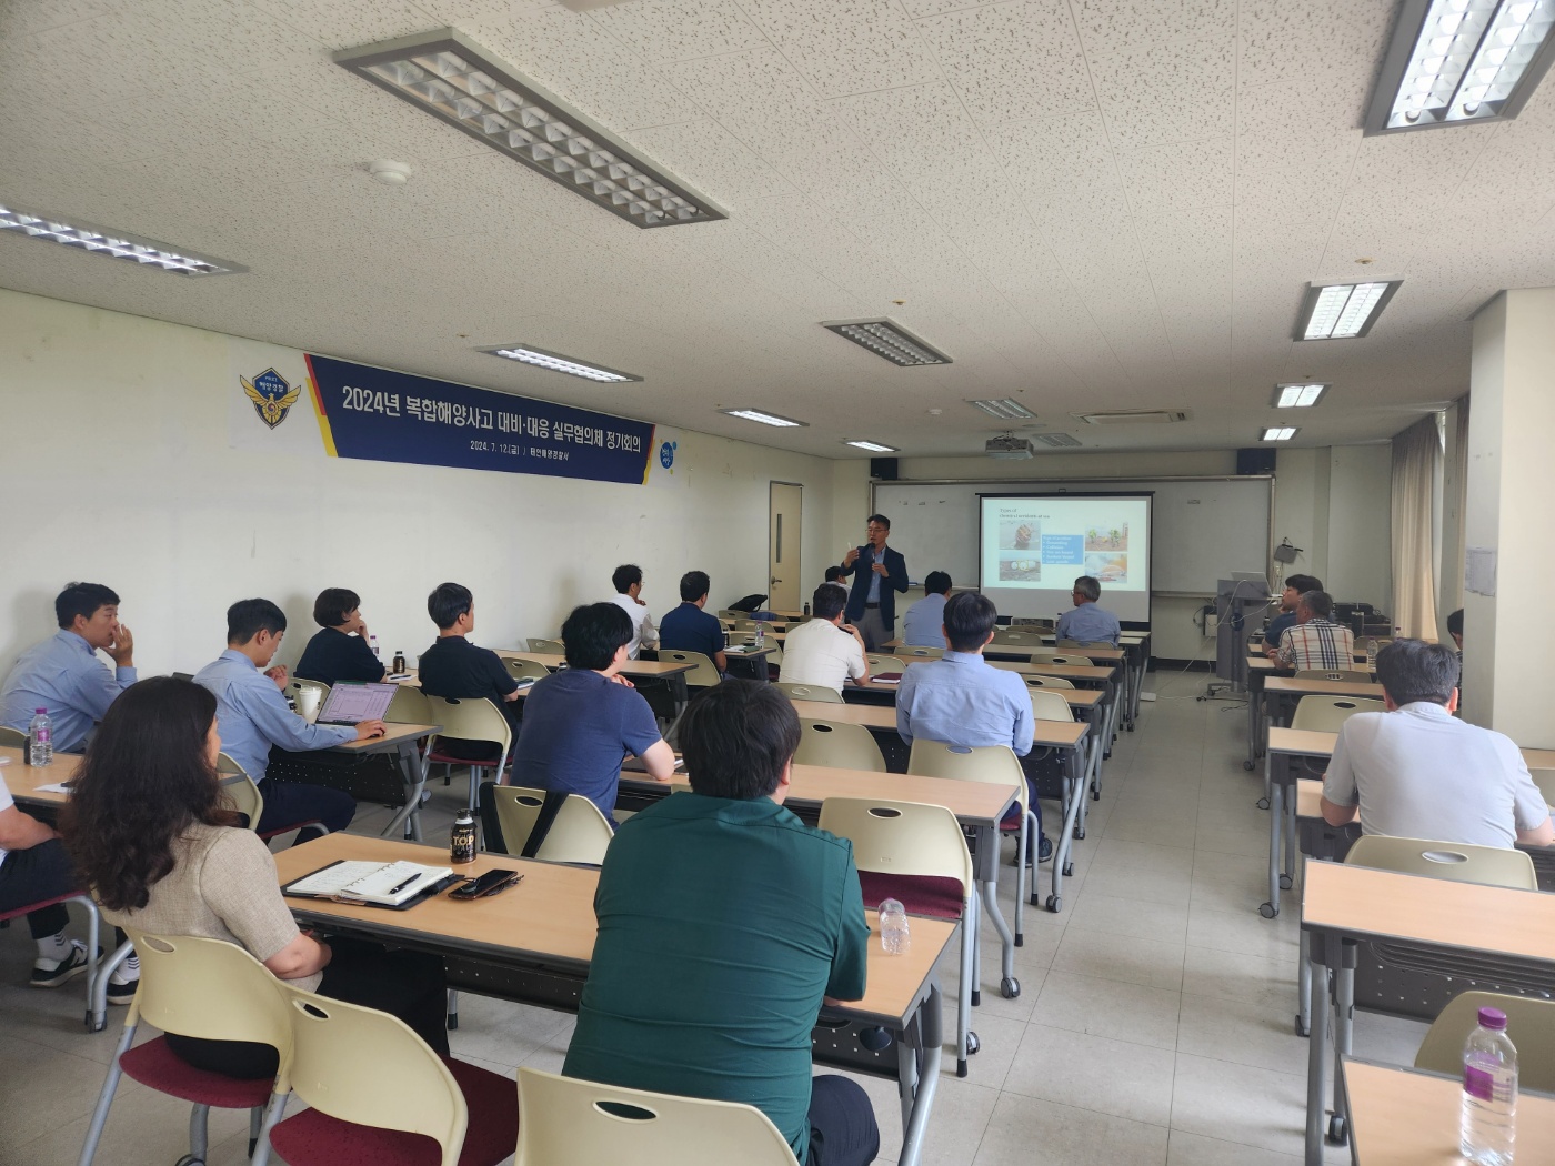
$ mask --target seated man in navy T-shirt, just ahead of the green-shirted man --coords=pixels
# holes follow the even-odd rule
[[[524,701],[513,785],[580,793],[610,818],[627,754],[655,780],[675,774],[653,709],[620,675],[631,637],[631,616],[614,603],[572,608],[561,625],[568,667],[535,681]]]

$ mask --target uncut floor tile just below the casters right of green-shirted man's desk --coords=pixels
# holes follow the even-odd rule
[[[1006,1093],[1166,1126],[1174,1054],[1045,1025],[1028,1025]]]

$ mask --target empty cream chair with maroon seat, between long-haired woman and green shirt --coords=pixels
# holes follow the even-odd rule
[[[309,1107],[271,1130],[288,1166],[496,1166],[513,1154],[508,1077],[437,1056],[387,1012],[288,984],[281,992],[291,1088]]]

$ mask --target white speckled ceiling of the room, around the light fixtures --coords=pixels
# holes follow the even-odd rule
[[[1466,390],[1488,297],[1555,283],[1552,84],[1516,121],[1362,138],[1393,12],[0,0],[0,202],[249,267],[0,232],[0,285],[824,457],[981,452],[1003,426],[966,401],[1005,396],[1085,448],[1236,448],[1277,421],[1298,446],[1378,440]],[[443,26],[728,219],[641,230],[330,61]],[[1367,337],[1291,340],[1308,281],[1364,278],[1404,281]],[[885,316],[953,364],[821,326]],[[477,351],[512,342],[644,379]],[[1275,412],[1286,381],[1333,389]],[[739,406],[809,428],[717,412]],[[1112,409],[1188,420],[1071,417]]]

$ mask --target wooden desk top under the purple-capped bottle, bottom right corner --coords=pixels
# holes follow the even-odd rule
[[[1345,1057],[1354,1166],[1468,1166],[1459,1154],[1463,1082]],[[1555,1099],[1518,1094],[1518,1163],[1555,1161]]]

